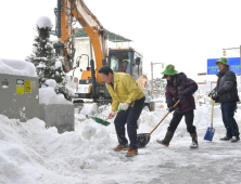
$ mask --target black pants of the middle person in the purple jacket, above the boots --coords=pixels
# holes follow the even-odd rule
[[[186,113],[177,113],[174,111],[173,119],[170,120],[169,127],[167,128],[168,131],[175,132],[178,124],[181,121],[182,116],[185,116],[185,122],[187,124],[187,130],[189,133],[195,132],[195,127],[193,126],[194,113],[193,110],[186,111]]]

